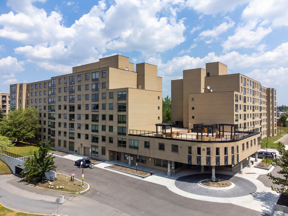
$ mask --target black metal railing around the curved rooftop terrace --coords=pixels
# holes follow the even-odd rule
[[[153,138],[163,138],[163,139],[178,139],[178,140],[185,140],[185,141],[192,141],[192,142],[233,142],[236,140],[242,140],[246,137],[252,136],[254,134],[258,134],[258,128],[253,128],[247,131],[238,131],[237,134],[214,134],[212,135],[205,135],[201,133],[197,134],[180,134],[179,132],[172,132],[171,133],[162,133],[156,131],[142,131],[142,130],[129,130],[128,135],[134,136],[145,136],[145,137],[153,137]]]

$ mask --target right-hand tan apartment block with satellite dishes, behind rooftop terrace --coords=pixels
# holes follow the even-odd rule
[[[206,70],[184,70],[183,79],[171,81],[171,116],[184,128],[225,122],[239,131],[259,128],[262,138],[275,136],[276,89],[240,73],[227,74],[220,62],[207,63]]]

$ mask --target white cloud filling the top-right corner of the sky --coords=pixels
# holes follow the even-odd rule
[[[287,8],[286,0],[253,0],[243,10],[242,18],[247,22],[251,19],[269,20],[273,27],[288,26]]]

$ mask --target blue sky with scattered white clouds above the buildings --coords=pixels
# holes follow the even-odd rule
[[[182,71],[220,61],[287,105],[287,0],[0,1],[0,90],[120,54],[158,66],[163,97]]]

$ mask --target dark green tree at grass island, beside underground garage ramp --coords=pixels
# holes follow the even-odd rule
[[[50,150],[50,141],[46,144],[46,141],[41,141],[39,143],[38,152],[34,152],[31,156],[28,156],[24,162],[24,168],[21,172],[21,175],[24,176],[24,180],[27,182],[38,182],[43,178],[46,172],[56,168],[54,165],[54,158],[52,155],[49,155]]]

